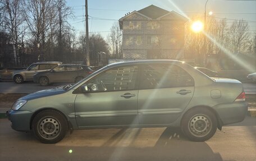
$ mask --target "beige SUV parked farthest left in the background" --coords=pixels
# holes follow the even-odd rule
[[[17,84],[21,84],[24,81],[33,80],[33,75],[36,72],[49,71],[61,64],[62,62],[36,62],[25,70],[14,71],[12,73],[12,80]]]

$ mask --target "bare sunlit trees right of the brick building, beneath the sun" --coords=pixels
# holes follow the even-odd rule
[[[198,58],[196,64],[203,65],[206,57],[213,56],[220,59],[223,69],[240,68],[239,61],[255,68],[256,33],[250,31],[248,22],[232,20],[228,25],[227,19],[209,17],[205,33],[194,33],[189,24],[185,32],[185,57]]]

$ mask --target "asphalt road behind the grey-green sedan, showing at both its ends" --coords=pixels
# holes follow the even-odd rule
[[[55,86],[65,85],[68,83],[58,83],[51,86],[40,86],[33,82],[24,84],[15,84],[15,82],[0,82],[0,93],[33,93],[38,90],[53,88]],[[256,83],[243,83],[246,94],[256,94]]]

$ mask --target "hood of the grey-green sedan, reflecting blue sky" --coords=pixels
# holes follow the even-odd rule
[[[21,97],[19,100],[21,100],[21,99],[31,100],[31,99],[36,99],[36,98],[42,98],[45,96],[62,94],[65,92],[66,92],[66,90],[63,90],[63,86],[58,86],[58,87],[52,88],[52,89],[36,91],[35,93],[31,93],[29,95]]]

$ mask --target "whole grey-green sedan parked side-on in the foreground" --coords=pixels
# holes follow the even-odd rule
[[[205,141],[247,112],[240,81],[213,80],[180,61],[150,60],[113,63],[74,85],[26,95],[7,116],[14,130],[32,130],[44,143],[61,141],[68,129],[169,126]]]

